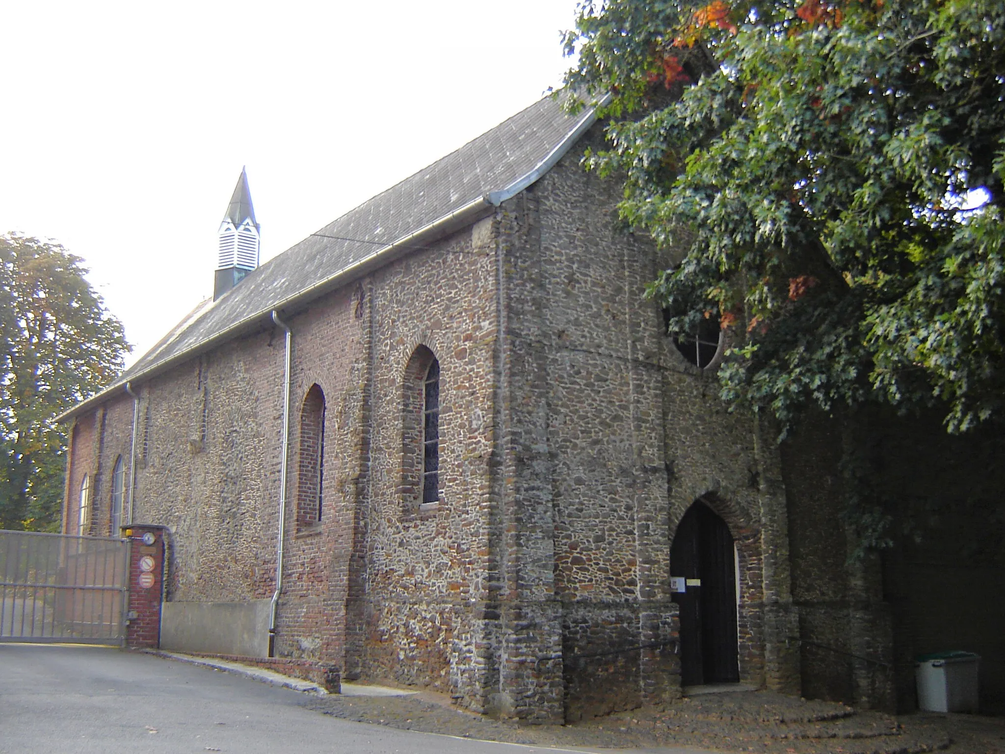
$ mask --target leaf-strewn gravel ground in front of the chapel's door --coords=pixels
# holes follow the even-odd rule
[[[770,692],[692,697],[566,726],[519,726],[451,707],[428,692],[408,697],[331,695],[305,700],[326,715],[406,730],[534,746],[651,749],[687,746],[766,754],[1005,754],[1005,719],[855,713],[843,705]]]

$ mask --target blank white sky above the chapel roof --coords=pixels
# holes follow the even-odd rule
[[[135,349],[212,294],[247,166],[262,261],[561,82],[575,0],[0,4],[0,232],[82,256]]]

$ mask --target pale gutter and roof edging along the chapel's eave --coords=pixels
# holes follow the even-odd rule
[[[363,259],[350,264],[348,267],[339,270],[332,276],[326,277],[324,280],[320,280],[314,286],[310,286],[303,291],[298,291],[292,296],[286,297],[277,304],[273,304],[267,309],[263,309],[250,317],[245,317],[240,322],[236,322],[230,327],[221,330],[216,335],[199,341],[184,351],[181,351],[174,356],[170,356],[164,361],[151,365],[148,369],[130,375],[130,381],[136,382],[140,378],[150,378],[154,375],[161,374],[178,364],[188,361],[193,356],[196,356],[203,351],[208,351],[217,344],[225,343],[241,333],[249,332],[256,326],[270,322],[271,313],[273,311],[282,311],[296,304],[315,299],[335,288],[352,281],[356,277],[365,274],[375,267],[386,264],[398,256],[413,250],[417,245],[429,243],[435,238],[440,238],[458,227],[474,222],[476,219],[479,219],[479,215],[483,216],[483,213],[499,206],[507,199],[513,198],[555,167],[555,164],[565,156],[565,154],[580,139],[580,137],[582,137],[583,134],[585,134],[596,122],[596,109],[603,108],[610,102],[610,93],[605,95],[603,98],[598,100],[589,110],[586,111],[586,113],[583,114],[573,130],[566,134],[562,141],[559,142],[541,162],[534,166],[531,171],[521,176],[505,188],[499,189],[498,191],[490,191],[487,194],[482,194],[452,212],[449,212],[442,217],[423,225],[418,230],[415,230],[408,235],[404,235],[398,240],[389,243],[383,248],[375,251],[370,256],[364,257]],[[61,414],[56,416],[56,421],[62,422],[73,419],[91,408],[94,408],[109,398],[112,398],[116,392],[122,391],[124,388],[125,383],[108,387],[96,395],[93,395],[72,408],[63,411]]]

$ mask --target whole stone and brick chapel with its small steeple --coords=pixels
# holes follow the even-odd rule
[[[903,706],[928,639],[847,561],[837,440],[780,446],[720,402],[720,332],[666,336],[602,141],[544,99],[260,265],[242,171],[213,298],[62,417],[64,532],[167,527],[163,646],[527,722]]]

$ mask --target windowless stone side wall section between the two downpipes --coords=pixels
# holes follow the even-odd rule
[[[140,389],[134,519],[170,531],[168,600],[271,596],[283,358],[273,331]]]

